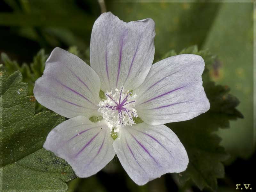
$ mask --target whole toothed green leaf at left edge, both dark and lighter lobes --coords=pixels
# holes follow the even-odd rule
[[[36,68],[37,65],[34,65]],[[1,159],[4,189],[60,189],[76,177],[72,168],[42,148],[48,133],[65,120],[51,111],[35,114],[35,98],[20,71],[8,76],[0,65]]]

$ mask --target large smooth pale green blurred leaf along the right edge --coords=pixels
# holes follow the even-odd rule
[[[223,3],[204,48],[219,56],[212,78],[227,84],[241,101],[244,119],[231,122],[232,130],[220,130],[221,144],[234,157],[248,158],[253,147],[253,4]],[[217,63],[218,64],[218,63]]]

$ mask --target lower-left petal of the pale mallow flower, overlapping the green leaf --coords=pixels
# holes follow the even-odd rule
[[[100,171],[115,156],[113,139],[105,124],[77,116],[55,127],[44,148],[65,159],[78,177]]]

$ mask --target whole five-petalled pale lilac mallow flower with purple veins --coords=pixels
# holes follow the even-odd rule
[[[65,159],[78,177],[99,172],[115,154],[138,185],[186,170],[187,152],[164,124],[209,109],[204,60],[181,54],[152,65],[154,37],[152,19],[126,23],[107,12],[92,28],[91,67],[58,47],[47,59],[36,100],[69,119],[48,134],[44,148]],[[102,120],[92,122],[95,116]],[[138,117],[143,122],[136,124]]]

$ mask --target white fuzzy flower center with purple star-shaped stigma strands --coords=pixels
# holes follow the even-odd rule
[[[138,117],[135,107],[134,98],[136,94],[132,95],[132,91],[125,91],[122,86],[121,89],[115,89],[115,92],[106,92],[106,100],[100,101],[98,104],[98,111],[103,115],[103,119],[108,122],[110,129],[117,128],[119,125],[135,124],[132,117]],[[118,132],[118,129],[114,130]]]

